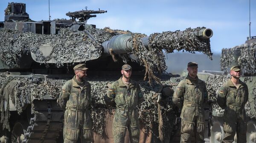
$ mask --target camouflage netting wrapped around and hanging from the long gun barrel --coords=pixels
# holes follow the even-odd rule
[[[200,31],[200,28],[187,28],[181,31],[167,31],[162,33],[151,34],[148,38],[148,48],[143,45],[141,37],[143,34],[133,34],[131,41],[133,42],[133,53],[137,57],[137,62],[144,65],[146,73],[145,78],[148,77],[149,83],[152,79],[160,81],[155,74],[166,71],[166,63],[163,50],[166,53],[173,53],[174,50],[186,50],[190,53],[195,51],[203,52],[212,59],[212,52],[210,48],[209,39],[199,39],[194,35],[195,31]]]

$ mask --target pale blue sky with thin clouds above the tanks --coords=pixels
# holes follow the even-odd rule
[[[8,2],[26,3],[32,20],[48,20],[48,0],[0,0],[0,21]],[[241,45],[249,36],[249,0],[50,0],[51,20],[66,18],[69,11],[107,10],[88,20],[97,28],[155,32],[211,28],[214,54]],[[251,36],[256,36],[256,0],[251,0]]]

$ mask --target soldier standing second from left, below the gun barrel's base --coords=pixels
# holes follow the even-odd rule
[[[115,81],[107,92],[106,103],[116,104],[113,119],[114,143],[124,143],[128,129],[131,143],[138,143],[140,128],[136,106],[143,102],[143,94],[139,84],[130,79],[131,66],[122,66],[122,77]]]

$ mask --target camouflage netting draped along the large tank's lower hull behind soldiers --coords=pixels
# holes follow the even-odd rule
[[[104,95],[107,91],[107,84],[116,81],[118,77],[111,78],[88,78],[87,80],[91,84],[91,95],[92,95],[92,119],[93,119],[93,131],[99,135],[104,134],[103,128],[105,127],[105,115],[112,114],[111,107],[108,107],[104,101]],[[163,84],[171,84],[171,81],[162,79]],[[18,114],[21,114],[22,107],[25,104],[32,104],[31,96],[39,98],[42,100],[44,95],[48,94],[52,98],[58,98],[59,93],[61,92],[61,87],[67,80],[63,79],[47,79],[46,81],[40,81],[38,83],[32,83],[31,79],[26,78],[15,78],[15,77],[6,77],[3,74],[0,74],[0,83],[1,83],[1,94],[0,94],[0,107],[1,107],[1,117],[0,123],[3,123],[3,128],[9,128],[9,111],[5,112],[4,110],[4,100],[9,100],[9,95],[11,95],[11,101],[15,105]],[[3,82],[2,82],[3,81]],[[157,82],[153,82],[152,86],[147,81],[139,81],[140,87],[144,94],[145,101],[138,107],[140,112],[139,119],[145,128],[145,132],[153,132],[155,136],[158,136],[158,122],[159,122],[159,111],[161,111],[161,118],[163,122],[162,132],[163,135],[170,134],[172,132],[175,120],[175,112],[172,109],[172,97],[166,97],[166,102],[168,104],[158,107],[158,104],[154,102],[156,93],[159,93],[162,85]],[[172,86],[171,86],[172,87]],[[8,89],[8,90],[6,90]],[[7,96],[6,96],[7,95]],[[32,111],[35,114],[38,112]]]

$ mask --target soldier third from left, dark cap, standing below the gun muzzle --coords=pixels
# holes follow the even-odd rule
[[[206,84],[198,79],[198,64],[188,63],[188,75],[180,81],[173,95],[173,103],[181,110],[180,143],[190,143],[195,135],[195,143],[204,143],[204,107],[208,101]],[[195,132],[195,133],[194,133]]]

